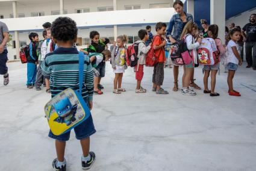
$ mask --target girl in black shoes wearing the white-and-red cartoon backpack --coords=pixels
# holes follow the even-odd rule
[[[217,49],[219,50],[219,57],[220,55],[223,55],[226,53],[226,49],[222,45],[222,42],[220,39],[217,38],[218,36],[219,28],[216,24],[210,25],[208,27],[208,36],[213,38]],[[217,71],[219,70],[220,63],[214,64],[214,65],[205,65],[204,66],[204,93],[210,93],[210,96],[219,96],[219,93],[215,93],[215,85],[216,85],[216,75]],[[208,78],[211,73],[211,90],[208,89]]]

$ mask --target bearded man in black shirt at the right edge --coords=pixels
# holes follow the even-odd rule
[[[252,66],[252,69],[256,70],[256,14],[251,14],[250,22],[242,29],[242,35],[245,40],[246,62],[248,63],[246,67]]]

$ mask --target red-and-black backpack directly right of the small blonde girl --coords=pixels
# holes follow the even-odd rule
[[[134,67],[137,65],[139,60],[138,52],[139,52],[140,43],[143,43],[143,42],[133,43],[133,45],[128,46],[126,51],[126,56],[125,56],[127,66]]]

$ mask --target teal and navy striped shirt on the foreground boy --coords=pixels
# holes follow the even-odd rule
[[[79,90],[79,54],[76,48],[58,48],[46,55],[42,74],[50,76],[52,97],[67,88]],[[82,96],[85,101],[93,99],[93,70],[89,57],[84,57]]]

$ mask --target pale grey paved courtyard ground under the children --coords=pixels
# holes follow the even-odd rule
[[[8,63],[10,84],[0,78],[0,170],[52,170],[54,140],[48,137],[43,106],[50,95],[27,89],[26,65]],[[234,87],[242,96],[228,95],[226,73],[217,75],[219,97],[184,96],[172,92],[172,69],[164,69],[163,88],[151,92],[152,68],[146,67],[142,85],[148,93],[134,93],[133,69],[125,71],[127,92],[114,95],[114,74],[107,63],[104,95],[95,95],[92,110],[96,134],[90,170],[256,170],[256,71],[239,67]],[[183,69],[180,69],[180,85]],[[202,69],[195,70],[203,87]],[[210,79],[209,79],[210,81]],[[66,146],[67,170],[81,170],[81,147],[72,132]]]

